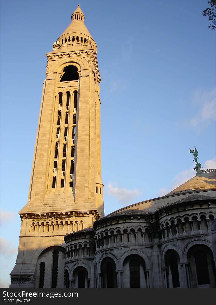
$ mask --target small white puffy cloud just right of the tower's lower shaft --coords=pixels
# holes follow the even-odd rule
[[[116,198],[121,203],[128,203],[135,199],[139,195],[138,190],[128,190],[127,188],[118,188],[113,185],[114,182],[110,182],[107,185],[107,194]]]

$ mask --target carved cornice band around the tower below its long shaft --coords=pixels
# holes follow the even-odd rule
[[[21,219],[50,219],[50,218],[71,218],[71,217],[82,217],[82,216],[93,216],[95,219],[99,218],[98,212],[95,211],[71,211],[71,212],[55,212],[55,213],[26,213],[20,214]]]

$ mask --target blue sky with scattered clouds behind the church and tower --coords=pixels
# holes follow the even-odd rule
[[[215,31],[207,0],[80,2],[101,75],[105,213],[192,178],[196,146],[216,167]],[[77,2],[1,2],[1,261],[10,282],[27,203],[46,52]]]

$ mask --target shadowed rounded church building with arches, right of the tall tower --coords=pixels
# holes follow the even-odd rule
[[[66,287],[215,287],[215,183],[204,173],[66,235]]]

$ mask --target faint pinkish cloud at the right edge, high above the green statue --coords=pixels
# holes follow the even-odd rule
[[[196,127],[200,123],[208,124],[211,120],[216,120],[216,88],[210,92],[197,91],[194,99],[196,100],[196,115],[190,123]]]

